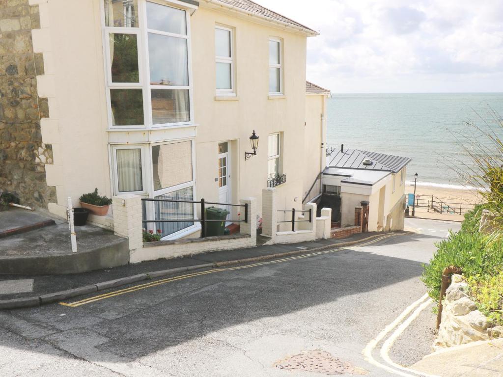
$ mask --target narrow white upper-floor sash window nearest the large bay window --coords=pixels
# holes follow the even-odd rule
[[[216,91],[234,92],[234,48],[232,29],[215,27]]]

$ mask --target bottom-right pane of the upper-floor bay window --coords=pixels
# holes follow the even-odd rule
[[[151,89],[152,123],[190,121],[189,89]]]

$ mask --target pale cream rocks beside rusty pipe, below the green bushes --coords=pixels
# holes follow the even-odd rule
[[[468,297],[468,284],[463,277],[453,275],[443,301],[442,322],[434,348],[502,336],[503,326],[491,327],[487,317],[477,310],[475,303]]]

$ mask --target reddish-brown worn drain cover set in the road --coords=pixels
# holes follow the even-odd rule
[[[333,357],[325,351],[307,351],[276,364],[281,369],[300,369],[324,374],[368,374],[348,361]]]

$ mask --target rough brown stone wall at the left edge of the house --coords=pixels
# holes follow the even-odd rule
[[[31,30],[39,27],[38,6],[0,0],[0,192],[46,208],[56,191],[46,184],[52,148],[42,143],[40,132],[40,118],[48,117],[49,109],[37,94],[36,75],[44,73],[44,63],[33,53]]]

